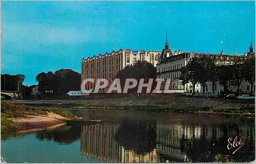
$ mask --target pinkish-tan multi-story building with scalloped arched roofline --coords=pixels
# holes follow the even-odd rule
[[[112,53],[106,52],[104,55],[83,58],[81,81],[88,78],[95,80],[104,78],[111,81],[118,71],[127,65],[135,64],[137,60],[148,61],[156,66],[160,53],[158,51],[120,49]]]

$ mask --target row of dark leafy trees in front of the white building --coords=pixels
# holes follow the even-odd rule
[[[194,57],[181,68],[180,79],[182,85],[191,82],[193,94],[195,94],[196,84],[200,84],[205,92],[207,82],[212,83],[214,93],[216,84],[223,86],[223,92],[227,92],[231,81],[235,82],[239,94],[240,85],[247,81],[251,85],[250,95],[252,95],[255,81],[255,58],[234,57],[232,61],[219,61],[206,56]]]

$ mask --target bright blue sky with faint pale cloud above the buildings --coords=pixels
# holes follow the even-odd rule
[[[251,2],[2,2],[2,74],[71,68],[81,59],[113,50],[238,54],[255,40]],[[253,42],[254,43],[254,42]],[[253,44],[254,45],[254,44]]]

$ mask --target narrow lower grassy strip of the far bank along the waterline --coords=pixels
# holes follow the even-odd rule
[[[205,114],[221,114],[221,115],[243,115],[255,116],[254,106],[242,106],[241,108],[217,108],[212,107],[184,107],[177,105],[88,105],[84,103],[65,103],[65,104],[33,104],[38,107],[50,108],[72,108],[72,109],[109,109],[109,110],[143,110],[143,111],[165,111],[165,112],[184,112],[184,113],[205,113]]]

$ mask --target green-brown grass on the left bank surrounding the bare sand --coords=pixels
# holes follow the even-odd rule
[[[21,119],[26,120],[26,119],[29,119],[29,116],[47,117],[49,112],[56,113],[64,118],[71,118],[73,116],[73,114],[66,109],[59,110],[51,107],[34,107],[31,105],[2,102],[1,103],[1,132],[7,133],[7,132],[20,130],[17,124],[14,122],[14,120],[21,120]],[[40,127],[40,125],[38,125],[38,127]]]

